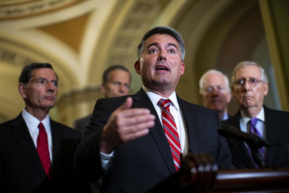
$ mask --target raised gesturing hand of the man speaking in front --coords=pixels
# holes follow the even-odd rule
[[[111,153],[115,146],[148,134],[149,128],[154,126],[155,116],[149,109],[131,107],[132,98],[128,97],[110,115],[101,134],[101,152]]]

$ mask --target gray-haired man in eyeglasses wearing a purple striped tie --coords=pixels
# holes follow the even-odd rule
[[[263,105],[268,93],[268,78],[255,62],[238,63],[232,74],[232,93],[240,110],[225,124],[241,131],[258,135],[273,144],[289,144],[289,112],[269,109]],[[284,145],[260,147],[259,161],[254,161],[250,146],[243,141],[228,138],[232,163],[237,168],[288,167],[288,151]]]

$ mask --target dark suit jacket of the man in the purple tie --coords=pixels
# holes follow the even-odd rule
[[[289,145],[289,112],[277,111],[264,107],[267,140],[274,144]],[[223,123],[240,128],[240,110]],[[232,153],[232,163],[237,168],[255,168],[244,141],[228,138],[229,149]],[[284,146],[267,148],[266,167],[289,166],[288,153]],[[287,160],[286,160],[287,159]]]

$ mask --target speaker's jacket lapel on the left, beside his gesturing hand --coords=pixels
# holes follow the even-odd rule
[[[172,153],[169,148],[169,142],[166,139],[165,133],[163,131],[163,125],[158,118],[157,112],[151,103],[150,98],[141,88],[137,93],[132,96],[133,104],[135,108],[147,108],[151,111],[152,114],[156,116],[155,126],[150,129],[150,133],[153,136],[154,140],[157,143],[157,146],[160,149],[160,152],[163,156],[163,159],[166,162],[166,165],[171,174],[176,172],[175,165],[172,159]]]

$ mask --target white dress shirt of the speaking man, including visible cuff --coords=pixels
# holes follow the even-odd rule
[[[157,103],[159,102],[159,100],[161,98],[163,98],[162,96],[153,93],[151,90],[149,90],[146,87],[142,87],[144,92],[148,95],[148,97],[150,98],[151,102],[154,105],[154,108],[157,111],[157,115],[160,119],[160,122],[162,123],[162,109],[160,106],[157,105]],[[172,114],[172,116],[175,119],[176,122],[176,126],[178,129],[178,133],[179,133],[179,138],[181,141],[181,148],[182,148],[182,153],[183,153],[183,157],[186,157],[188,155],[188,135],[187,135],[187,131],[185,128],[185,123],[184,123],[184,119],[182,119],[182,111],[179,108],[179,103],[176,97],[176,92],[174,91],[169,97],[168,97],[171,101],[172,101],[172,105],[169,106],[169,111]],[[100,157],[101,157],[101,165],[102,168],[107,171],[111,165],[111,158],[113,157],[114,151],[111,152],[110,154],[106,154],[100,151]]]

